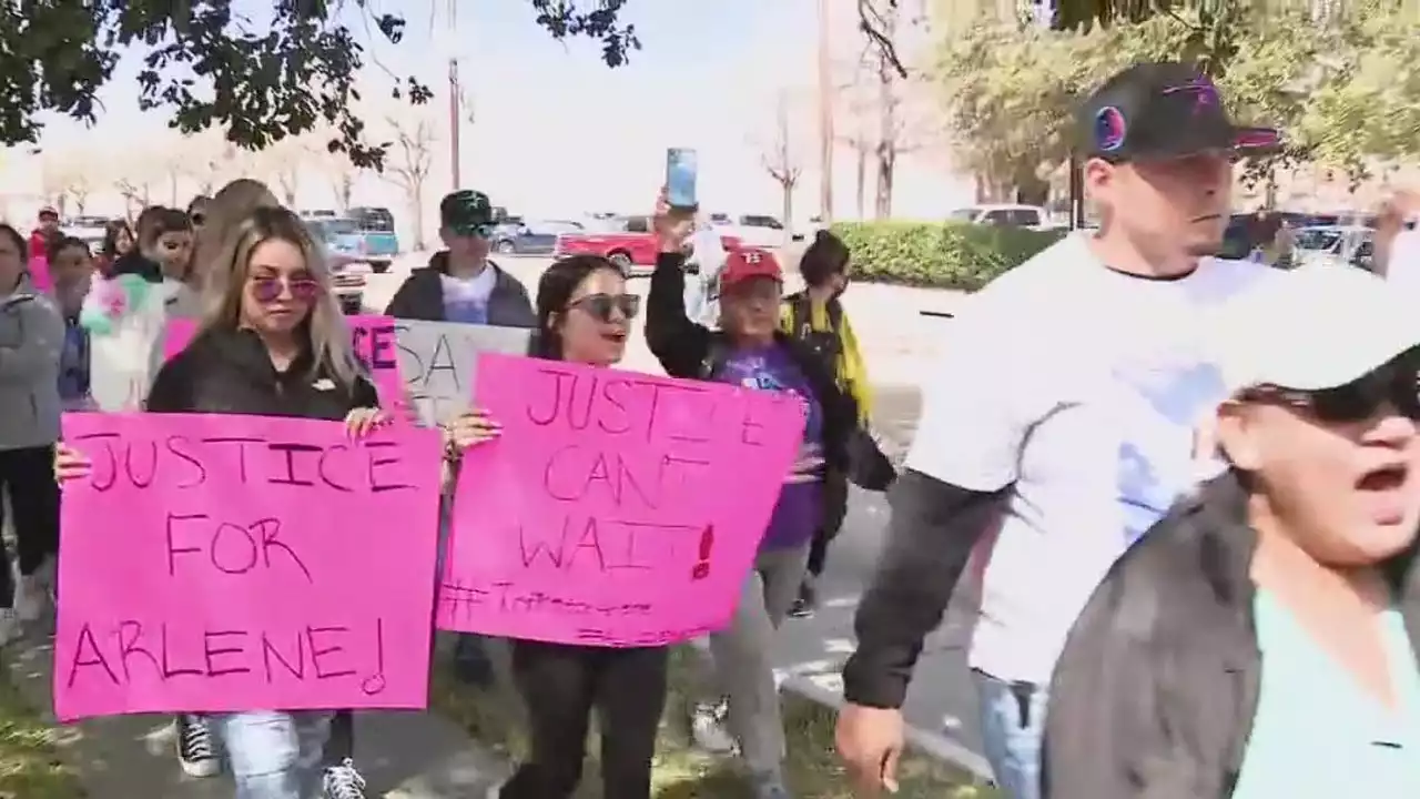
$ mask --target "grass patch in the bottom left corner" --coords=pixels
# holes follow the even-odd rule
[[[45,724],[0,667],[0,799],[80,799],[78,775],[60,759],[61,728]]]

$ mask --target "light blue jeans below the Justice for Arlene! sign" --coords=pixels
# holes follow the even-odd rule
[[[248,711],[209,721],[231,762],[236,799],[307,799],[320,790],[329,711]]]

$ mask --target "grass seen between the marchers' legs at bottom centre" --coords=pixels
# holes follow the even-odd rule
[[[690,742],[687,711],[693,704],[689,687],[693,681],[696,657],[686,647],[677,647],[670,660],[670,690],[666,714],[660,721],[656,744],[656,763],[652,776],[656,799],[748,799],[750,793],[733,759],[716,758]],[[494,655],[494,660],[503,660]],[[439,658],[433,674],[433,708],[462,724],[469,734],[494,751],[518,759],[527,752],[523,707],[517,691],[507,680],[506,661],[500,664],[498,684],[490,691],[477,691],[459,684],[447,670],[447,658]],[[834,754],[832,709],[795,694],[784,695],[784,724],[788,729],[788,762],[785,778],[795,796],[804,799],[852,799],[853,792]],[[592,725],[586,746],[586,769],[578,799],[601,799],[601,776],[596,768],[599,746],[596,725]],[[968,775],[950,769],[927,758],[907,754],[899,773],[903,799],[990,799],[997,796],[990,788],[976,785]]]

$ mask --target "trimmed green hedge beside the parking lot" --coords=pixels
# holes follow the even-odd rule
[[[974,290],[1054,245],[1064,230],[960,222],[841,222],[855,280]]]

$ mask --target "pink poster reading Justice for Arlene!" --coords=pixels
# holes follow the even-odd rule
[[[65,414],[54,709],[423,708],[440,442],[413,427]]]

